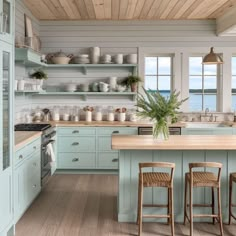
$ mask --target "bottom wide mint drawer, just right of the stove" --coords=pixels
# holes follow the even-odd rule
[[[95,153],[59,153],[59,169],[95,168]]]

